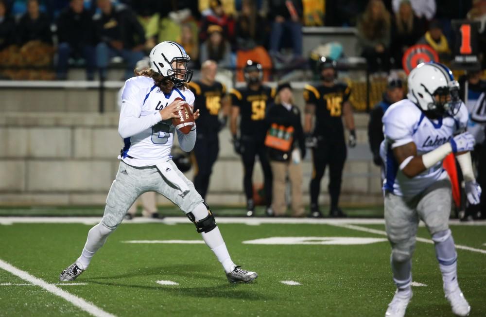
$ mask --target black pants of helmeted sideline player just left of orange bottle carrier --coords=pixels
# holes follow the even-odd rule
[[[250,136],[242,136],[242,160],[244,168],[243,187],[246,194],[246,200],[253,198],[253,167],[255,166],[255,157],[260,159],[261,169],[263,170],[265,202],[267,207],[272,204],[272,168],[266,147],[263,140],[255,140]]]

